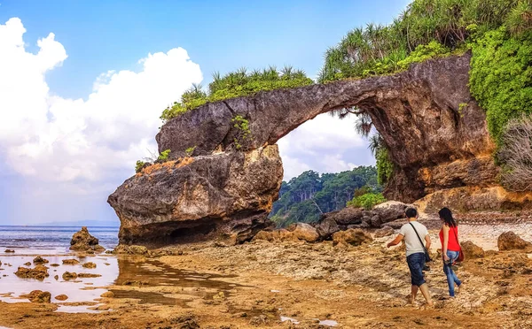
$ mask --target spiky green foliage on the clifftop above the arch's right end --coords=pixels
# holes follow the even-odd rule
[[[394,73],[411,63],[465,49],[470,27],[484,33],[515,21],[530,26],[529,0],[414,0],[387,25],[356,27],[326,50],[319,81]]]

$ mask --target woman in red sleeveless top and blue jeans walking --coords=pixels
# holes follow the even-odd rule
[[[458,292],[462,286],[462,282],[458,279],[455,272],[452,271],[452,265],[460,255],[460,244],[458,243],[458,225],[449,208],[442,208],[439,211],[440,219],[442,219],[442,230],[440,231],[440,241],[442,242],[442,256],[443,256],[443,272],[447,276],[447,284],[449,285],[449,295],[455,296],[455,284],[458,286]]]

